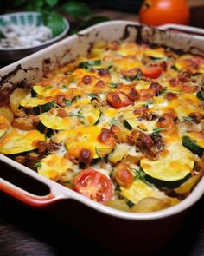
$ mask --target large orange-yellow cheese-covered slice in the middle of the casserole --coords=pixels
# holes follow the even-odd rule
[[[68,152],[75,158],[80,157],[82,148],[87,148],[92,152],[92,157],[96,159],[100,157],[99,150],[102,152],[103,149],[103,157],[105,153],[108,154],[112,151],[110,146],[98,141],[100,133],[101,128],[97,126],[82,126],[59,132],[55,135],[55,140],[57,142],[64,142]]]

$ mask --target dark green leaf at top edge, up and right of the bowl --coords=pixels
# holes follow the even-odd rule
[[[75,2],[75,1],[70,1],[68,3],[65,3],[61,7],[61,10],[78,19],[84,18],[86,16],[90,16],[92,14],[92,10],[89,8],[89,6],[86,3]]]

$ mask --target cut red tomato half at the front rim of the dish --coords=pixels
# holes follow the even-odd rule
[[[75,191],[99,203],[105,204],[112,199],[112,181],[92,168],[80,171],[73,183]]]

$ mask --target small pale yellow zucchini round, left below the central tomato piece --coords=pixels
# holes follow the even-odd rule
[[[80,121],[86,125],[95,125],[99,122],[100,110],[98,106],[87,104],[80,109],[79,113],[83,115]]]

